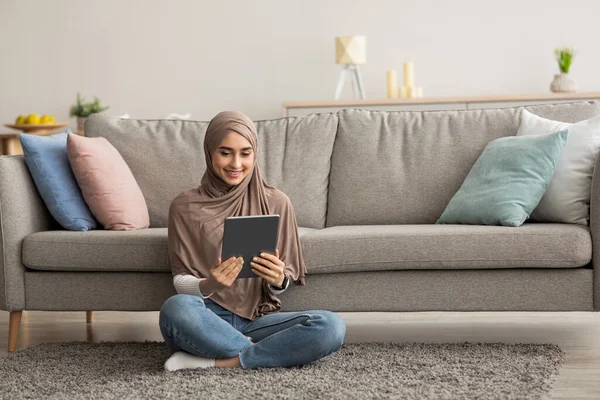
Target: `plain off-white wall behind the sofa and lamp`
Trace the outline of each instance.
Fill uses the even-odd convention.
[[[0,0],[0,122],[67,121],[77,91],[111,115],[277,118],[333,99],[334,37],[353,34],[367,98],[409,58],[425,96],[548,92],[562,45],[580,91],[599,91],[598,15],[598,0]]]

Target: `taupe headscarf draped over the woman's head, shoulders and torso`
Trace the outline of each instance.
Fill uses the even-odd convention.
[[[212,166],[212,154],[230,131],[246,138],[254,150],[252,170],[237,185],[223,181]],[[296,284],[306,285],[306,266],[292,203],[283,192],[264,182],[257,154],[256,127],[246,115],[223,111],[210,121],[204,137],[206,171],[200,187],[179,194],[169,208],[169,264],[173,276],[192,274],[208,278],[221,255],[225,218],[279,214],[277,248],[285,263],[285,274]],[[261,277],[236,279],[210,298],[250,320],[281,310],[281,301]]]

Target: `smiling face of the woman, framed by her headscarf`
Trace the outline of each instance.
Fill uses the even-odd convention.
[[[229,131],[212,154],[212,167],[219,178],[230,185],[239,184],[252,171],[254,149],[237,132]]]

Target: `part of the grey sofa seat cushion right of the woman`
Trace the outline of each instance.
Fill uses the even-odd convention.
[[[302,249],[311,274],[481,268],[575,268],[592,257],[582,225],[335,226],[309,233]]]

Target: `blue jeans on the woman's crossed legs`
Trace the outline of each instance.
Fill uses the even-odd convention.
[[[159,325],[171,354],[239,354],[242,368],[307,364],[338,351],[346,335],[344,320],[331,311],[276,312],[251,321],[210,298],[189,294],[176,294],[163,303]]]

